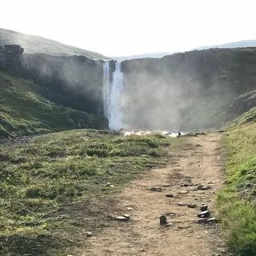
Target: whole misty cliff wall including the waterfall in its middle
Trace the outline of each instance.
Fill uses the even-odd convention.
[[[216,128],[255,104],[255,48],[193,50],[122,62],[22,52],[20,46],[1,46],[0,70],[33,80],[50,102],[104,115],[109,124],[101,119],[99,128]],[[241,100],[245,94],[247,100]],[[96,127],[71,122],[75,128]]]

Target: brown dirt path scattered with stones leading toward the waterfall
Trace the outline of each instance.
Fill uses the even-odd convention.
[[[119,214],[130,214],[130,222],[118,222],[88,239],[83,256],[210,256],[226,254],[218,225],[195,223],[202,203],[214,216],[214,194],[222,186],[220,134],[189,138],[172,155],[166,169],[150,170],[130,183],[118,195]],[[209,190],[194,190],[197,186]],[[184,186],[185,185],[185,186]],[[150,191],[162,187],[161,192]],[[174,198],[166,198],[174,194]],[[197,206],[179,206],[180,202]],[[133,210],[127,210],[131,207]],[[172,213],[168,216],[168,213]],[[167,214],[171,226],[160,226],[159,216]],[[114,221],[115,222],[115,221]]]

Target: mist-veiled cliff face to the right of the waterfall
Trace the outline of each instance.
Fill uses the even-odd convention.
[[[210,49],[122,62],[122,109],[130,126],[221,126],[241,94],[255,90],[256,49]],[[229,113],[227,113],[229,112]]]

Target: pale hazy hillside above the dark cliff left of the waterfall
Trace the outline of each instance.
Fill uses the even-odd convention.
[[[17,44],[24,48],[26,54],[44,53],[55,56],[83,55],[91,59],[108,59],[102,54],[89,50],[67,46],[61,42],[38,37],[30,34],[22,34],[13,30],[0,28],[0,45]]]

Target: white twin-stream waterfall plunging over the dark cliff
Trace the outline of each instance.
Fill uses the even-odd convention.
[[[103,64],[104,114],[109,120],[111,130],[118,130],[123,127],[121,95],[124,75],[121,69],[121,62],[115,62],[114,73],[110,74],[110,62]]]

